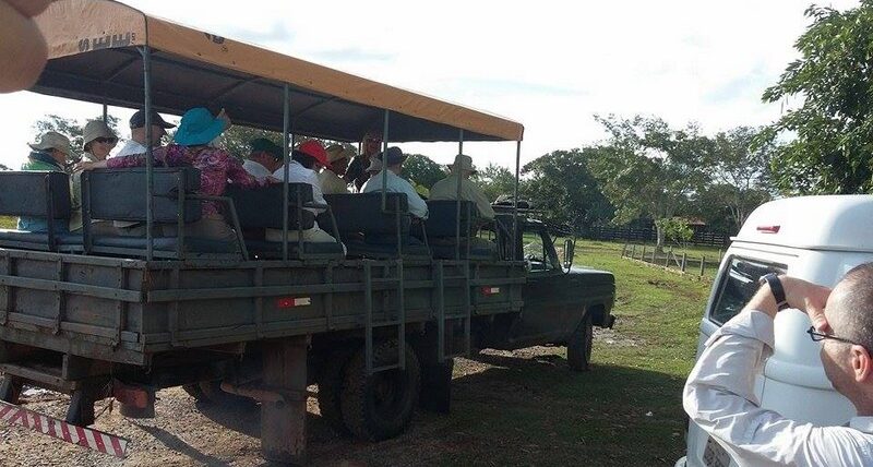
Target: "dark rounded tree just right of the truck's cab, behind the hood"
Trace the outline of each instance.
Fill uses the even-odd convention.
[[[588,170],[589,159],[599,157],[599,152],[596,147],[554,151],[526,164],[523,196],[550,223],[576,230],[608,219],[613,208]]]

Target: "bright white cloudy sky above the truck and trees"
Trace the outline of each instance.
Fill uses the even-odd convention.
[[[811,0],[123,2],[522,122],[524,164],[606,137],[594,115],[694,121],[709,134],[774,121],[797,103],[763,104],[761,95],[798,58],[793,43],[810,23]],[[0,164],[10,167],[26,158],[43,116],[84,122],[101,112],[28,92],[0,95]],[[127,121],[132,110],[110,113]],[[457,153],[450,143],[400,147],[440,163]],[[477,166],[515,164],[514,143],[466,143],[464,152]]]

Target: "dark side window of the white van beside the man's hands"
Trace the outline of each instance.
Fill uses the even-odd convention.
[[[781,264],[732,258],[721,277],[715,306],[709,311],[709,320],[719,325],[725,324],[755,295],[761,276],[769,273],[782,274],[785,271],[786,266]]]

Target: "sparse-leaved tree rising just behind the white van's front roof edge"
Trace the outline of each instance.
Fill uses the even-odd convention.
[[[704,189],[709,200],[703,211],[727,207],[733,232],[740,230],[755,207],[772,197],[769,165],[778,146],[773,141],[753,144],[758,135],[760,130],[738,127],[715,137],[708,164],[713,184]]]

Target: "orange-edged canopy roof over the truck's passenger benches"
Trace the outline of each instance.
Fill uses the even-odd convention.
[[[36,19],[49,63],[38,93],[139,108],[143,60],[152,49],[152,101],[181,115],[193,106],[227,108],[235,122],[283,128],[290,86],[291,131],[358,141],[382,130],[388,140],[521,141],[521,123],[294,57],[192,29],[110,0],[59,0]]]

